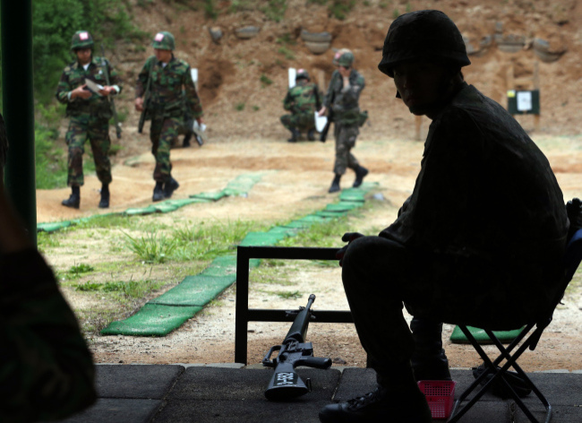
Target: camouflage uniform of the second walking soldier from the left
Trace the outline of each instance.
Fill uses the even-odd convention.
[[[152,69],[153,67],[153,69]],[[150,105],[147,118],[151,119],[151,153],[156,158],[153,178],[157,182],[171,179],[170,148],[184,125],[184,104],[193,119],[202,116],[201,101],[196,92],[190,65],[184,60],[172,59],[166,66],[150,56],[141,69],[135,89],[142,97],[151,70]]]

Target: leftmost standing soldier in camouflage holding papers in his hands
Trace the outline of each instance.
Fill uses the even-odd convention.
[[[80,186],[84,183],[82,154],[89,138],[97,177],[101,182],[98,207],[107,208],[111,183],[109,119],[113,116],[109,96],[121,92],[122,82],[105,57],[93,56],[93,38],[88,31],[75,32],[71,49],[75,60],[64,68],[56,87],[56,99],[66,104],[66,116],[71,118],[65,141],[69,148],[67,183],[72,194],[63,201],[63,205],[78,209],[81,203]],[[106,73],[111,85],[107,85]],[[102,88],[91,91],[87,80]]]

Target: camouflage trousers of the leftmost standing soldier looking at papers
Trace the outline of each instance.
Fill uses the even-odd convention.
[[[93,117],[90,114],[71,117],[69,129],[65,135],[65,142],[69,147],[69,170],[67,184],[69,186],[82,186],[85,183],[83,177],[83,152],[84,145],[89,138],[95,171],[102,184],[111,183],[111,162],[109,161],[109,123],[102,117]]]

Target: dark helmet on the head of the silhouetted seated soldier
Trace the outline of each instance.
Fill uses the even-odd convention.
[[[409,61],[471,65],[457,25],[438,10],[405,13],[390,25],[378,69],[393,78],[394,66]]]

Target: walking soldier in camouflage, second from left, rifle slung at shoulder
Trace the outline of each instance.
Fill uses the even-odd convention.
[[[158,202],[171,197],[179,186],[171,173],[170,148],[183,125],[184,104],[200,125],[203,122],[201,101],[190,65],[172,53],[174,36],[167,31],[158,32],[152,47],[154,56],[146,60],[137,78],[135,108],[142,111],[145,107],[146,117],[151,120],[151,153],[156,158],[152,200]],[[148,99],[144,99],[146,91]]]

